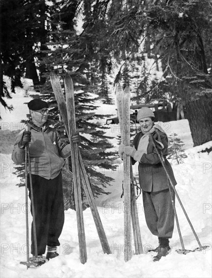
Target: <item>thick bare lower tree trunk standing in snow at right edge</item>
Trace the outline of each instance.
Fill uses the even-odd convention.
[[[194,147],[212,140],[212,98],[201,96],[198,100],[187,102],[186,110]]]

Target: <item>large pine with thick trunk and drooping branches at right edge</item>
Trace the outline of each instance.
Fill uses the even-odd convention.
[[[161,57],[168,90],[186,107],[194,146],[212,134],[211,58],[206,57],[211,51],[205,44],[212,33],[211,11],[208,0],[156,1],[145,11],[152,53]]]

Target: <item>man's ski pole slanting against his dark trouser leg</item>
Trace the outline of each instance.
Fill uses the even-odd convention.
[[[26,131],[28,131],[27,129]],[[34,208],[34,198],[33,198],[33,189],[32,189],[32,174],[31,174],[29,143],[26,144],[26,153],[28,157],[29,183],[30,183],[30,191],[31,191],[32,225],[33,225],[33,236],[34,236],[34,245],[35,245],[35,257],[37,258],[37,236],[36,236],[35,208]]]

